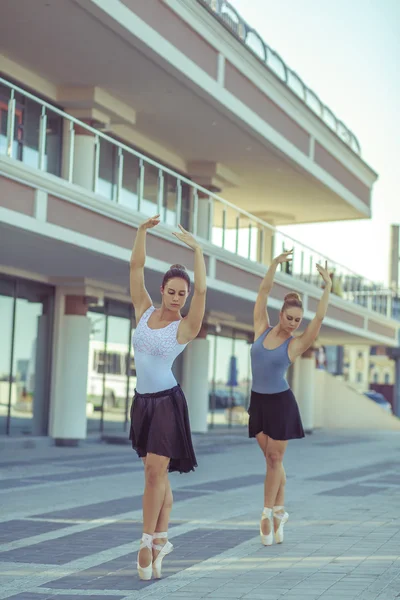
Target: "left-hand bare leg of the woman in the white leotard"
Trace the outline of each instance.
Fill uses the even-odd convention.
[[[169,458],[148,453],[145,461],[145,488],[143,494],[143,533],[153,535],[166,494],[166,471]],[[152,552],[142,548],[139,564],[147,567],[152,562]]]

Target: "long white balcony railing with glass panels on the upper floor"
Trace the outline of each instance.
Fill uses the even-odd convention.
[[[83,180],[88,139],[93,156]],[[397,296],[381,284],[2,78],[0,154],[80,185],[99,200],[148,216],[159,213],[165,224],[182,223],[210,244],[256,263],[268,264],[272,256],[293,248],[293,262],[283,269],[317,288],[321,278],[315,265],[327,260],[335,294],[388,317],[399,314]]]

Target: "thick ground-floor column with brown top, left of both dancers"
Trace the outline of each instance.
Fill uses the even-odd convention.
[[[61,296],[50,436],[57,446],[76,446],[86,438],[86,391],[90,319],[83,296]]]

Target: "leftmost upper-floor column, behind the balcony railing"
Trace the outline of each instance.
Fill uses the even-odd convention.
[[[91,121],[87,121],[91,125]],[[68,176],[69,169],[70,131],[69,122],[64,120],[63,132],[63,177]],[[87,190],[93,190],[93,176],[95,169],[95,136],[87,129],[75,126],[73,175],[72,183],[76,183]]]

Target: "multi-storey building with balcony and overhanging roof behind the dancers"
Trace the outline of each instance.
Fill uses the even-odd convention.
[[[0,37],[1,433],[67,443],[126,427],[128,261],[155,213],[156,303],[171,263],[193,268],[177,224],[204,245],[206,318],[176,371],[205,431],[218,398],[247,401],[253,303],[283,247],[294,261],[277,275],[271,319],[289,290],[305,323],[315,312],[325,257],[277,227],[369,218],[376,173],[326,99],[227,2],[3,0]],[[388,291],[329,264],[340,293],[320,343],[397,347]],[[313,356],[294,371],[312,428]]]

